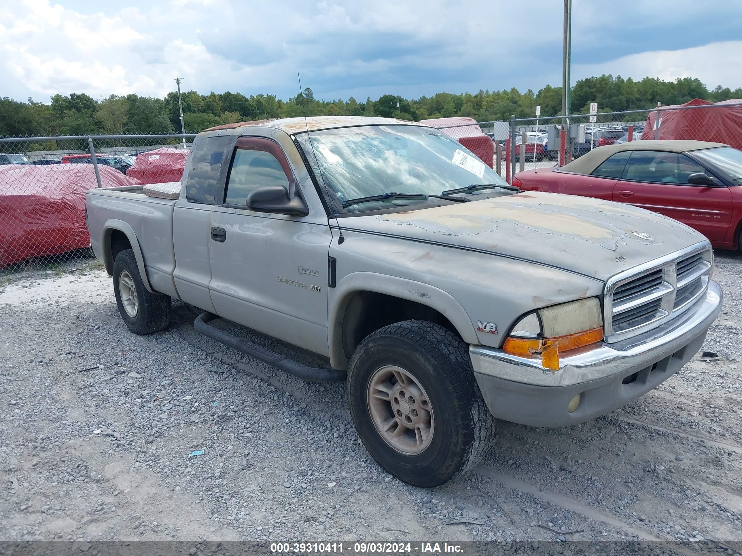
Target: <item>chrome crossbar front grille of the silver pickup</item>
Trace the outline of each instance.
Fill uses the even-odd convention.
[[[617,274],[605,285],[605,341],[641,334],[677,317],[706,291],[713,252],[704,242]]]

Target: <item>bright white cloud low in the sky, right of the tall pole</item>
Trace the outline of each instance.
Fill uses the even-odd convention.
[[[573,80],[611,73],[624,79],[697,77],[706,87],[742,87],[742,41],[712,42],[681,50],[657,50],[623,56],[601,64],[580,64],[572,68]]]

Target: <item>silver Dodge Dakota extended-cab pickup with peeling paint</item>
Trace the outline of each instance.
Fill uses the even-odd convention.
[[[569,426],[640,397],[691,359],[722,302],[691,228],[521,192],[439,130],[394,119],[207,130],[182,183],[88,191],[86,214],[131,331],[163,330],[180,299],[215,340],[346,380],[367,449],[417,486],[474,466],[492,416]]]

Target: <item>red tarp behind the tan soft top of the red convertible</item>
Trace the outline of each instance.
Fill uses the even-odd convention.
[[[684,106],[709,106],[689,110],[660,110],[660,133],[658,139],[695,139],[726,143],[742,149],[742,106],[725,106],[741,103],[742,99],[712,103],[693,99]],[[671,108],[664,106],[663,108]],[[657,112],[650,112],[644,126],[642,139],[654,139],[654,121]]]

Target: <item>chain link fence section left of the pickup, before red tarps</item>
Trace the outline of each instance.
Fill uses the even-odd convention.
[[[180,181],[194,137],[0,138],[0,277],[91,257],[85,191]]]

